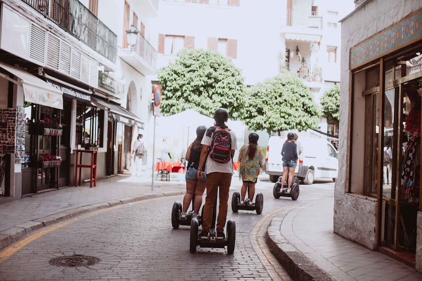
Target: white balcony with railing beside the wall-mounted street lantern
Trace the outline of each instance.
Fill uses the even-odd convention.
[[[143,75],[154,75],[157,51],[138,33],[137,44],[133,49],[122,50],[120,58]]]

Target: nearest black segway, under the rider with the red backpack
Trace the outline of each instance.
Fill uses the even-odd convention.
[[[201,248],[225,248],[227,246],[227,254],[233,254],[235,251],[236,242],[236,223],[234,220],[227,222],[226,234],[227,236],[221,240],[217,240],[217,230],[215,229],[216,213],[217,213],[217,197],[214,202],[214,211],[212,214],[211,228],[208,234],[208,239],[198,238],[198,226],[199,222],[196,218],[190,221],[190,245],[189,251],[191,253],[196,252],[196,247]]]

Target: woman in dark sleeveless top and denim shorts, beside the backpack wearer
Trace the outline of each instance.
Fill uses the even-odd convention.
[[[188,161],[188,167],[185,175],[186,179],[186,194],[183,197],[183,211],[180,215],[181,218],[186,218],[187,209],[189,208],[190,201],[192,201],[193,196],[195,196],[193,200],[193,210],[194,214],[192,218],[196,218],[199,214],[199,208],[202,204],[202,194],[205,190],[205,164],[202,168],[203,178],[197,178],[198,172],[198,165],[199,165],[199,157],[201,156],[202,151],[202,144],[201,140],[205,134],[207,127],[199,126],[196,128],[196,139],[189,145],[186,151],[186,161]],[[205,160],[206,161],[206,160]]]

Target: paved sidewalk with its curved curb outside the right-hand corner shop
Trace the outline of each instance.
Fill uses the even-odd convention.
[[[333,232],[334,197],[283,210],[267,244],[292,280],[422,280],[422,274]]]

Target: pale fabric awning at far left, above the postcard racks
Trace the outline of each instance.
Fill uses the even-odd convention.
[[[4,75],[3,78],[16,85],[22,85],[25,101],[33,102],[49,107],[63,109],[63,93],[47,82],[26,72],[23,69],[13,67],[0,62],[0,68],[13,74],[21,80],[21,83]]]

